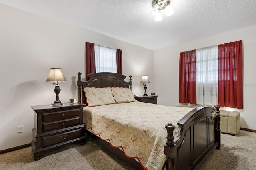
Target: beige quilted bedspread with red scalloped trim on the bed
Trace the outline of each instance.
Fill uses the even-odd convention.
[[[84,123],[102,140],[122,148],[129,158],[137,158],[148,170],[160,170],[164,165],[164,143],[167,123],[180,128],[177,122],[192,108],[171,107],[142,102],[114,103],[84,107]]]

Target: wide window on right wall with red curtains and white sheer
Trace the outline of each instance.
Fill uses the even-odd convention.
[[[241,40],[180,53],[179,102],[243,109],[242,65]]]

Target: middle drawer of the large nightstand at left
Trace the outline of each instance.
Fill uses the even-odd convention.
[[[80,117],[74,117],[71,119],[64,119],[61,121],[54,121],[49,123],[43,123],[42,124],[42,131],[48,131],[48,130],[55,130],[60,128],[69,127],[72,125],[79,125],[80,124]]]

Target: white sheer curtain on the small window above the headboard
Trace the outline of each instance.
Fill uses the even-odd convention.
[[[94,45],[96,73],[117,73],[116,49]]]

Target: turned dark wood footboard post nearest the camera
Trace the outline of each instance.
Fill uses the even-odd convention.
[[[167,140],[165,142],[166,144],[164,145],[164,154],[167,156],[166,169],[176,170],[176,165],[174,164],[174,157],[177,155],[177,148],[176,144],[173,141],[173,130],[175,129],[175,126],[171,123],[168,123],[167,125],[165,125],[165,128],[167,130]]]

